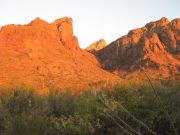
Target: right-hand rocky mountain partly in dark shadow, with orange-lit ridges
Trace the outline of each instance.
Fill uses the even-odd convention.
[[[180,19],[163,17],[110,43],[96,53],[102,67],[119,76],[146,70],[151,77],[180,74]]]

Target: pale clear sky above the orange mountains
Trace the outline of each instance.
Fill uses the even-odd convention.
[[[179,18],[180,0],[0,0],[0,26],[64,16],[73,18],[74,34],[85,48],[101,38],[112,42],[163,16]]]

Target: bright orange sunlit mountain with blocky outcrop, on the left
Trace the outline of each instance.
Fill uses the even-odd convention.
[[[110,81],[109,81],[110,80]],[[48,23],[36,18],[0,29],[0,87],[82,90],[119,78],[101,69],[95,56],[79,47],[72,19]]]

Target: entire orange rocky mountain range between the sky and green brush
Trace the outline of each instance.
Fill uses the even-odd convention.
[[[68,17],[52,23],[36,18],[1,27],[0,88],[92,90],[139,77],[142,69],[151,77],[178,80],[180,19],[162,18],[109,45],[96,41],[86,50],[79,47],[72,23]]]

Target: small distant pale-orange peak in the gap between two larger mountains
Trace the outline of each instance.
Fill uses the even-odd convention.
[[[90,53],[96,53],[97,51],[103,49],[106,45],[107,45],[106,41],[104,39],[100,39],[99,41],[92,43],[85,50]]]

